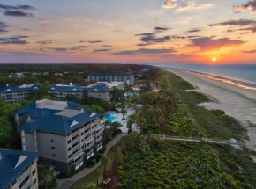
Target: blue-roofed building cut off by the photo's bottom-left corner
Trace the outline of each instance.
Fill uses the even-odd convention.
[[[0,149],[0,188],[38,189],[37,152]]]

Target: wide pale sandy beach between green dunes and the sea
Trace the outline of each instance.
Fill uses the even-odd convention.
[[[196,91],[206,94],[213,100],[200,105],[208,109],[220,109],[240,120],[248,129],[249,140],[245,141],[245,146],[256,151],[256,127],[248,127],[248,121],[256,124],[256,90],[253,84],[181,69],[163,69],[181,76],[193,84]]]

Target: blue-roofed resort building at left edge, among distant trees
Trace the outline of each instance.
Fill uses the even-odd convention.
[[[15,103],[26,99],[33,90],[41,90],[41,86],[38,84],[23,84],[11,87],[6,84],[5,87],[0,87],[0,97],[4,98],[4,102]]]

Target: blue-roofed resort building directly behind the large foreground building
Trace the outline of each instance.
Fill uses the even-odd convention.
[[[56,84],[49,87],[48,93],[56,98],[65,100],[67,96],[75,96],[79,99],[87,97],[101,98],[110,101],[109,88],[106,84],[90,84],[88,86],[79,86]]]

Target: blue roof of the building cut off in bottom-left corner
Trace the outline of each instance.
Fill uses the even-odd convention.
[[[0,188],[8,188],[38,155],[37,152],[0,149]]]

